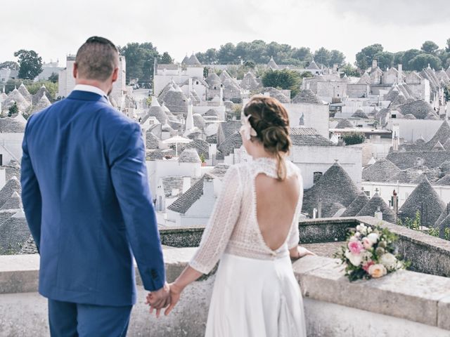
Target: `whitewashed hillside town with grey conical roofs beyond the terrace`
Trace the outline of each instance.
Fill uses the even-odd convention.
[[[27,118],[74,88],[75,55],[65,61],[39,74],[58,74],[53,94],[45,85],[32,94],[23,83],[8,92],[0,84],[2,254],[36,252],[20,199],[21,144]],[[278,65],[272,57],[238,79],[232,65],[202,64],[192,53],[155,61],[151,87],[139,88],[121,56],[109,100],[141,125],[158,225],[206,225],[226,170],[252,160],[238,133],[240,112],[261,94],[288,110],[303,218],[374,216],[450,239],[450,67],[382,70],[374,59],[360,76],[347,76],[339,64],[307,63]],[[283,70],[300,74],[297,90],[264,86],[262,72]],[[3,84],[18,77],[7,67],[0,75]]]

